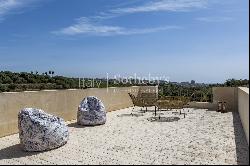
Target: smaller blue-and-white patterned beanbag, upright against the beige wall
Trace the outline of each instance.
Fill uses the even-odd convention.
[[[106,111],[101,100],[94,96],[83,99],[78,107],[77,123],[85,126],[105,124]]]

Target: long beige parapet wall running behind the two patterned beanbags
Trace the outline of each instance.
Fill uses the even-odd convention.
[[[23,108],[40,108],[68,121],[76,119],[78,105],[86,96],[100,98],[107,111],[114,111],[132,106],[128,93],[138,93],[138,89],[126,87],[0,93],[0,137],[18,132],[17,116]]]

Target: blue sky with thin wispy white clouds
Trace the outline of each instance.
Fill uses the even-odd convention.
[[[0,0],[0,70],[249,78],[248,0]]]

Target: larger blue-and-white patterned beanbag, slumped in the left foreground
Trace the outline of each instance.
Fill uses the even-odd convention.
[[[46,151],[58,148],[69,139],[64,120],[43,110],[25,108],[18,114],[21,146],[25,151]]]

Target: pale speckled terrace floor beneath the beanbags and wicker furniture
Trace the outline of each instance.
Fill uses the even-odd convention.
[[[69,142],[48,152],[23,152],[18,134],[0,138],[0,164],[249,163],[249,147],[237,113],[186,109],[184,118],[164,111],[161,117],[180,119],[151,122],[153,109],[144,116],[131,116],[131,110],[108,113],[103,126],[70,124]]]

